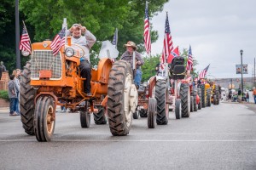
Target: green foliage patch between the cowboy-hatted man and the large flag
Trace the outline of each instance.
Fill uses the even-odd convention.
[[[160,54],[151,56],[150,58],[143,58],[144,65],[142,66],[143,78],[142,82],[147,82],[150,77],[155,75],[155,66],[159,64]]]

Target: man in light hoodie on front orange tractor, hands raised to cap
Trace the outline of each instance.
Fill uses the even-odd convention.
[[[84,33],[84,36],[82,36]],[[79,69],[81,77],[86,78],[84,80],[84,93],[91,96],[90,93],[90,48],[96,42],[96,37],[86,29],[85,26],[80,24],[73,24],[73,26],[67,30],[67,36],[72,35],[71,42],[79,44],[84,49],[84,56],[80,58]]]

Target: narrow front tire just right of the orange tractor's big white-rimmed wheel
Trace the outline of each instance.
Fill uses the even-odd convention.
[[[149,98],[148,100],[148,128],[155,127],[156,120],[156,99]]]

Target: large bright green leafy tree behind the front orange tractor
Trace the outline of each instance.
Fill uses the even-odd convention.
[[[150,2],[149,16],[161,11],[166,2]],[[49,12],[49,8],[54,13]],[[143,51],[144,10],[145,1],[142,0],[20,0],[20,11],[25,14],[26,23],[34,29],[35,41],[55,37],[61,30],[63,18],[67,18],[69,26],[81,23],[96,36],[97,42],[92,48],[96,53],[93,54],[99,53],[102,41],[112,41],[115,28],[119,29],[120,54],[125,51],[123,44],[129,40],[136,42],[139,51]],[[157,32],[152,31],[151,41],[155,42],[157,38]]]

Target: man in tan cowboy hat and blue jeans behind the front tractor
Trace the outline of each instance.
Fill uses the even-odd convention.
[[[141,54],[139,54],[137,52],[137,46],[134,42],[127,42],[125,45],[126,47],[126,51],[124,54],[122,54],[121,59],[126,60],[128,63],[130,63],[131,68],[133,67],[133,57],[132,54],[133,52],[135,52],[135,64],[136,64],[136,74],[135,74],[135,78],[134,78],[134,82],[137,85],[137,88],[140,86],[140,83],[142,81],[142,75],[143,72],[141,70],[141,65],[144,64],[144,60]],[[132,68],[134,69],[134,68]]]

